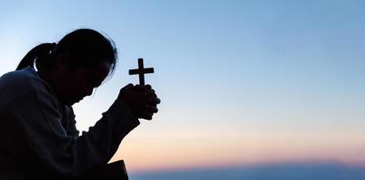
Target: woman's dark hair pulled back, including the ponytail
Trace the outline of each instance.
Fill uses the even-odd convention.
[[[110,72],[117,64],[117,48],[113,40],[91,29],[71,31],[59,43],[42,43],[31,49],[20,61],[16,70],[35,65],[38,71],[51,70],[54,57],[61,52],[70,52],[72,67],[93,67],[101,60],[110,62]]]

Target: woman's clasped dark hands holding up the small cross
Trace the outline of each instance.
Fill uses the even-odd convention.
[[[152,120],[158,112],[157,104],[161,103],[151,85],[126,85],[117,98],[126,103],[136,118],[145,120]]]

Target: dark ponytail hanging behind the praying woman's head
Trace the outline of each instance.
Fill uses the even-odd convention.
[[[16,67],[16,70],[22,69],[24,67],[33,67],[35,59],[37,59],[37,63],[40,63],[43,60],[50,60],[49,58],[51,57],[51,51],[55,47],[56,43],[42,43],[34,47],[20,61],[18,67]],[[40,64],[43,63],[47,62],[41,62]]]

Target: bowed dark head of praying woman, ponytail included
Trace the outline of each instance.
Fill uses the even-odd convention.
[[[92,93],[114,70],[117,49],[98,31],[71,31],[57,44],[44,43],[22,59],[17,69],[35,65],[61,103],[73,104]]]

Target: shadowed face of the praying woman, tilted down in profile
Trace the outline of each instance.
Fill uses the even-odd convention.
[[[92,94],[94,88],[101,85],[108,76],[110,69],[107,59],[100,60],[94,67],[71,67],[69,60],[69,55],[58,59],[56,71],[52,73],[55,78],[51,85],[59,101],[66,105],[78,103]]]

